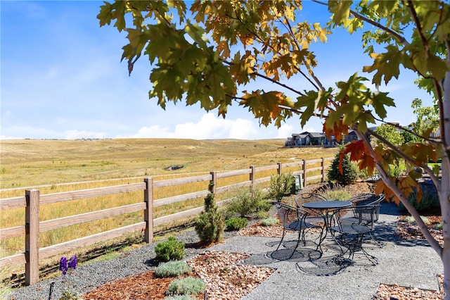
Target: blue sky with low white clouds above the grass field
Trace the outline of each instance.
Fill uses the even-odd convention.
[[[1,127],[0,139],[184,138],[276,139],[302,131],[321,131],[321,120],[302,129],[291,118],[279,129],[260,127],[245,108],[229,109],[226,119],[200,106],[157,106],[148,99],[150,65],[142,56],[129,77],[120,62],[125,34],[100,27],[96,15],[103,1],[0,1],[1,11]],[[308,2],[314,13],[305,18],[325,23],[325,7]],[[349,75],[371,78],[362,66],[371,64],[362,53],[360,37],[338,32],[326,44],[315,44],[316,74],[326,85]],[[413,122],[411,101],[430,96],[413,85],[416,76],[404,72],[383,92],[396,99],[387,121]],[[290,80],[296,89],[310,89]],[[304,85],[304,86],[303,86]],[[252,85],[268,91],[263,82]],[[250,88],[248,88],[250,90]],[[288,93],[286,93],[288,94]],[[289,94],[288,94],[289,95]],[[295,95],[292,95],[295,96]]]

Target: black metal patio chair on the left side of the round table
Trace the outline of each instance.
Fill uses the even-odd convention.
[[[283,226],[283,236],[281,237],[281,241],[276,247],[276,250],[280,248],[281,244],[283,243],[285,234],[288,231],[298,232],[297,244],[295,245],[293,253],[290,254],[289,258],[291,258],[294,255],[298,245],[300,244],[300,241],[302,241],[303,245],[306,246],[304,234],[307,230],[310,230],[312,228],[319,229],[320,230],[319,239],[321,239],[323,235],[323,227],[309,222],[308,219],[309,212],[305,211],[300,207],[290,206],[288,204],[283,204],[281,202],[278,202],[276,204],[276,207],[278,209],[278,215],[281,220],[281,225]],[[316,251],[319,249],[319,246],[320,244],[316,246]]]

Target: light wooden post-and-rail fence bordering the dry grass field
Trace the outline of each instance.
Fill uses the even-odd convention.
[[[143,182],[131,183],[128,185],[115,185],[111,187],[98,187],[94,189],[82,189],[71,192],[60,192],[54,194],[39,194],[38,189],[26,189],[25,196],[17,196],[13,198],[0,199],[0,210],[7,211],[17,208],[25,208],[25,225],[1,228],[0,241],[13,237],[25,237],[25,251],[13,256],[0,258],[0,268],[15,268],[20,265],[25,265],[25,285],[34,285],[39,281],[39,259],[49,258],[63,254],[67,251],[79,249],[84,246],[104,242],[108,239],[121,237],[133,232],[143,232],[144,239],[147,243],[153,242],[154,227],[164,225],[175,220],[184,220],[189,217],[200,214],[203,211],[203,206],[172,213],[170,215],[163,215],[159,218],[153,218],[154,208],[158,206],[165,206],[167,204],[175,204],[190,199],[204,198],[210,193],[209,187],[212,185],[213,193],[219,194],[236,189],[238,187],[247,187],[251,185],[268,182],[271,176],[276,174],[283,174],[286,168],[293,169],[289,173],[293,175],[302,175],[302,186],[306,186],[307,182],[312,180],[325,180],[326,168],[328,168],[329,161],[333,158],[320,158],[315,160],[300,160],[293,163],[277,163],[276,165],[267,165],[262,167],[250,166],[248,169],[231,170],[226,172],[211,172],[209,175],[198,175],[193,177],[181,177],[171,180],[153,181],[151,177],[144,178]],[[314,168],[308,168],[309,165],[318,165]],[[257,178],[257,175],[263,175],[272,172],[271,176]],[[319,175],[310,175],[308,173],[319,173]],[[247,180],[232,183],[229,185],[218,186],[218,182],[225,182],[227,178],[232,177],[247,177]],[[176,196],[169,196],[162,199],[153,199],[154,191],[158,188],[173,188],[176,185],[188,185],[197,182],[204,182],[205,189],[191,192],[188,194],[180,194]],[[56,204],[64,201],[72,201],[77,199],[95,198],[99,196],[117,195],[127,192],[143,192],[142,201],[137,204],[129,204],[125,206],[117,206],[114,208],[107,208],[101,211],[91,211],[88,213],[81,213],[77,215],[70,215],[64,218],[56,218],[53,220],[39,221],[39,208],[44,204]],[[218,206],[222,206],[227,200],[217,202]],[[100,220],[103,218],[110,218],[125,213],[134,213],[143,211],[143,220],[139,223],[119,227],[113,230],[100,232],[95,235],[80,237],[72,239],[68,242],[60,244],[53,244],[44,248],[39,248],[39,233],[48,230],[56,230],[59,228],[77,225],[81,223]]]

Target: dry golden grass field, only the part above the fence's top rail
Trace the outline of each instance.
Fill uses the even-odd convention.
[[[330,157],[336,151],[283,146],[283,139],[4,140],[0,188],[236,170],[292,158]],[[184,168],[165,170],[170,165]]]

